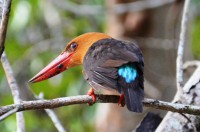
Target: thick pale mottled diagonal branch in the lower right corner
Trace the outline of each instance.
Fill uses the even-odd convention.
[[[200,106],[200,66],[194,71],[190,79],[187,81],[183,88],[183,93],[179,95],[180,101],[184,104],[191,104]],[[198,80],[198,81],[195,81]],[[195,82],[194,82],[195,81]],[[198,114],[197,114],[198,115]],[[185,115],[187,118],[183,118],[183,115],[168,112],[156,132],[168,132],[168,131],[195,131],[199,128],[200,118],[193,115]],[[188,122],[188,119],[190,121]],[[174,125],[177,124],[177,125]]]

